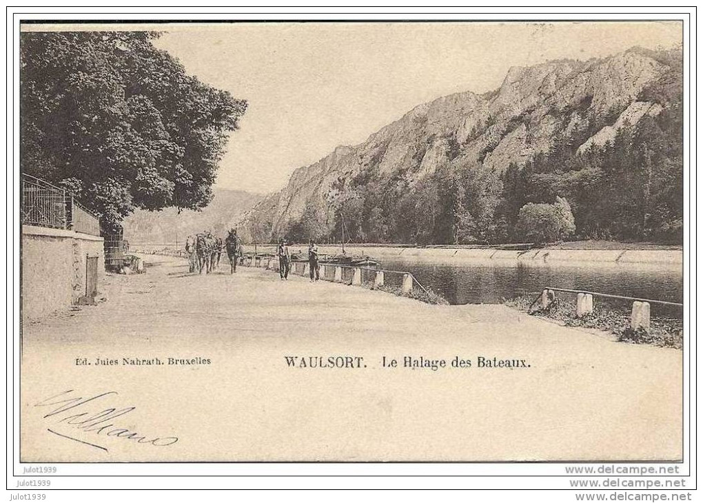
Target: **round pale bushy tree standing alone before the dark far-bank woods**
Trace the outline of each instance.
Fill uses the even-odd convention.
[[[576,230],[569,203],[562,197],[554,204],[525,204],[520,208],[517,228],[526,240],[537,244],[562,240]]]

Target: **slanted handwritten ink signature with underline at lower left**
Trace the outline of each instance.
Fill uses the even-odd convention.
[[[83,398],[82,396],[76,396],[75,390],[70,389],[41,400],[41,402],[34,404],[34,407],[55,407],[42,418],[52,423],[51,426],[53,426],[53,429],[47,428],[49,433],[102,449],[105,452],[108,452],[108,448],[89,442],[88,440],[93,440],[93,436],[98,436],[98,438],[112,437],[141,445],[153,445],[155,447],[167,447],[178,442],[178,437],[147,436],[116,424],[115,419],[124,419],[124,416],[134,412],[136,407],[117,408],[108,406],[108,408],[98,410],[97,412],[94,409],[86,410],[94,405],[105,407],[106,398],[112,398],[113,395],[116,396],[117,394],[117,391],[108,391],[106,393]],[[54,426],[54,423],[56,426]],[[84,440],[82,440],[81,438],[71,436],[71,434],[74,433],[67,431],[67,429],[91,433],[91,435],[81,435],[81,437],[84,438]]]

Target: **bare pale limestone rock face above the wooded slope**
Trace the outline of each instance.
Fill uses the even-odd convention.
[[[340,146],[297,169],[288,186],[259,202],[245,221],[268,221],[277,237],[313,207],[333,226],[335,204],[348,196],[352,178],[367,170],[400,174],[412,185],[438,169],[483,164],[501,172],[560,144],[579,152],[604,145],[625,124],[662,112],[662,105],[640,95],[679,71],[639,48],[609,58],[512,67],[494,92],[423,103],[360,145]]]

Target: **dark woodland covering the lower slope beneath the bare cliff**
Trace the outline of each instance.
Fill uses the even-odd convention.
[[[402,172],[381,175],[372,164],[337,184],[344,197],[330,238],[341,239],[343,216],[356,242],[496,244],[566,237],[681,242],[682,124],[681,101],[674,100],[657,117],[626,125],[605,145],[579,152],[579,138],[502,173],[480,162],[464,165],[458,156],[412,181]],[[568,207],[561,219],[556,200]],[[545,226],[542,231],[537,222]]]

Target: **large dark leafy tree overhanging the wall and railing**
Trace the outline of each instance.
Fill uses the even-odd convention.
[[[134,209],[201,209],[247,103],[186,74],[154,32],[23,33],[23,172],[117,226]]]

